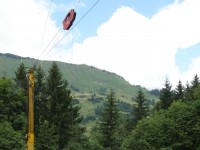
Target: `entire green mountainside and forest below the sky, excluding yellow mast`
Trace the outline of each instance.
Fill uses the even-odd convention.
[[[25,149],[33,62],[0,56],[0,149]],[[44,61],[34,72],[36,150],[200,149],[197,75],[174,90],[166,79],[161,90],[148,92],[86,65]]]

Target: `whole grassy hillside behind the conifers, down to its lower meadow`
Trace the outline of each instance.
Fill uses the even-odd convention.
[[[13,78],[21,62],[25,64],[27,70],[34,62],[37,62],[37,65],[40,64],[46,74],[48,74],[48,69],[52,64],[51,61],[36,61],[31,58],[21,58],[12,54],[0,53],[0,77]],[[102,106],[110,89],[115,91],[119,101],[130,104],[133,103],[132,98],[135,97],[139,89],[139,86],[131,85],[119,75],[105,70],[87,65],[56,63],[60,67],[63,77],[69,82],[72,94],[81,105],[81,113],[84,116],[95,114],[95,110],[97,107]],[[143,90],[148,99],[158,100],[156,96],[151,95],[145,88]]]

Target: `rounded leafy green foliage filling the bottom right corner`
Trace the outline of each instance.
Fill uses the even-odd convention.
[[[198,104],[198,105],[197,105]],[[143,143],[151,149],[198,149],[200,140],[200,101],[190,106],[184,102],[174,102],[168,110],[160,110],[153,116],[141,120],[125,140],[126,149],[134,149]]]

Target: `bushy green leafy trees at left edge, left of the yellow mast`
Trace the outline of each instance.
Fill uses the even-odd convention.
[[[25,149],[25,100],[23,90],[0,79],[0,149]]]

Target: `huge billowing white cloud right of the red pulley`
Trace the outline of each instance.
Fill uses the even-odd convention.
[[[187,74],[180,74],[175,64],[178,48],[200,42],[199,14],[199,0],[175,2],[150,19],[121,7],[98,28],[95,37],[74,44],[73,62],[115,72],[147,88],[162,87],[166,76],[175,86]]]

